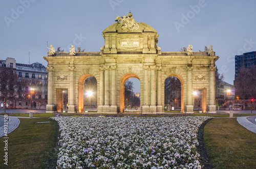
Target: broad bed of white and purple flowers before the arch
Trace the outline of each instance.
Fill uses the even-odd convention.
[[[54,117],[58,168],[201,168],[197,132],[211,117]]]

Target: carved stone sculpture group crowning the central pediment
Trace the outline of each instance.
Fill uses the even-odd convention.
[[[139,24],[133,18],[131,11],[127,14],[127,16],[117,16],[115,21],[117,21],[118,24],[121,24],[122,31],[127,30],[127,32],[133,32],[139,28]]]

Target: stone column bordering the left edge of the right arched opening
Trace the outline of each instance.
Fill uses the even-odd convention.
[[[162,67],[157,66],[157,112],[163,112],[162,106]]]

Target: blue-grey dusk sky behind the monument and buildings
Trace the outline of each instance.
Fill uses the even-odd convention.
[[[180,51],[188,44],[193,51],[203,51],[213,45],[220,57],[218,70],[233,84],[234,55],[256,50],[255,6],[254,0],[2,1],[0,59],[29,64],[30,52],[30,64],[47,66],[42,58],[47,56],[47,41],[65,52],[72,44],[87,52],[100,51],[102,31],[131,10],[137,22],[158,32],[162,51]]]

